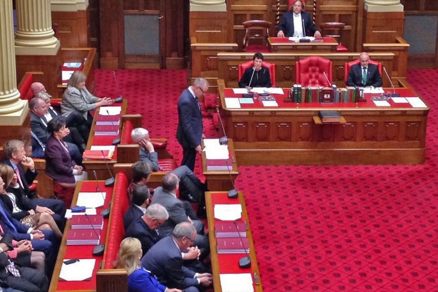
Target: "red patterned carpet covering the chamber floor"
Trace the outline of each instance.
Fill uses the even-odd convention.
[[[431,108],[424,165],[239,168],[266,292],[438,291],[434,77],[408,78]],[[176,101],[187,72],[119,70],[117,79],[129,113],[168,138],[179,162]],[[118,95],[112,83],[112,71],[96,71],[97,95]],[[210,119],[204,125],[207,137],[219,135]]]

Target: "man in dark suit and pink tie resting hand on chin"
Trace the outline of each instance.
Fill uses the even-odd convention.
[[[3,148],[5,159],[3,164],[12,167],[18,177],[18,184],[23,193],[37,204],[36,211],[43,213],[47,212],[53,216],[59,229],[64,230],[66,219],[66,207],[64,202],[57,199],[40,199],[37,194],[29,189],[29,184],[32,184],[37,177],[38,172],[35,169],[34,160],[25,155],[24,143],[20,140],[9,140]],[[26,167],[27,170],[24,171]]]

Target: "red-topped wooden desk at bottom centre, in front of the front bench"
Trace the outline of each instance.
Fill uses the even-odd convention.
[[[248,213],[246,212],[245,198],[242,192],[239,192],[237,199],[228,199],[227,192],[209,192],[205,193],[205,204],[207,207],[207,222],[208,222],[208,239],[210,241],[210,255],[211,255],[211,270],[213,274],[214,292],[222,292],[220,274],[229,273],[251,273],[253,276],[257,275],[258,284],[254,284],[255,292],[262,292],[262,282],[259,273],[259,265],[257,263],[256,251],[254,249],[253,234],[251,226],[249,225]],[[217,254],[216,237],[214,236],[214,205],[215,204],[240,204],[242,205],[242,220],[246,221],[248,230],[246,237],[249,239],[249,257],[251,257],[251,268],[239,268],[239,258],[245,256],[244,253],[237,254]]]

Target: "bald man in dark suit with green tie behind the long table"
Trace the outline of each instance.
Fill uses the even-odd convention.
[[[358,87],[382,87],[382,76],[376,64],[369,63],[369,55],[362,52],[359,56],[359,64],[350,68],[347,85]]]

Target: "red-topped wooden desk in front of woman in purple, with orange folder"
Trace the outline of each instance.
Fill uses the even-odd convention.
[[[128,109],[128,100],[123,100],[123,103],[114,104],[114,106],[121,106],[120,115],[126,114],[127,109]],[[120,137],[121,129],[119,130],[119,135],[117,135],[117,136],[95,136],[96,118],[99,115],[99,110],[100,110],[100,108],[98,108],[95,112],[93,123],[91,125],[90,135],[88,137],[87,149],[90,149],[91,146],[93,146],[93,145],[112,145],[112,141],[114,139]],[[114,167],[114,164],[117,163],[117,151],[114,151],[112,159],[107,160],[107,163],[108,163],[109,169],[111,170],[112,174],[114,175],[113,167]],[[105,180],[105,179],[110,178],[110,174],[108,173],[108,167],[107,167],[104,159],[88,159],[88,160],[84,160],[83,164],[85,165],[85,167],[87,169],[88,177],[90,179],[93,178],[93,174],[92,174],[93,170],[96,171],[98,179]]]

